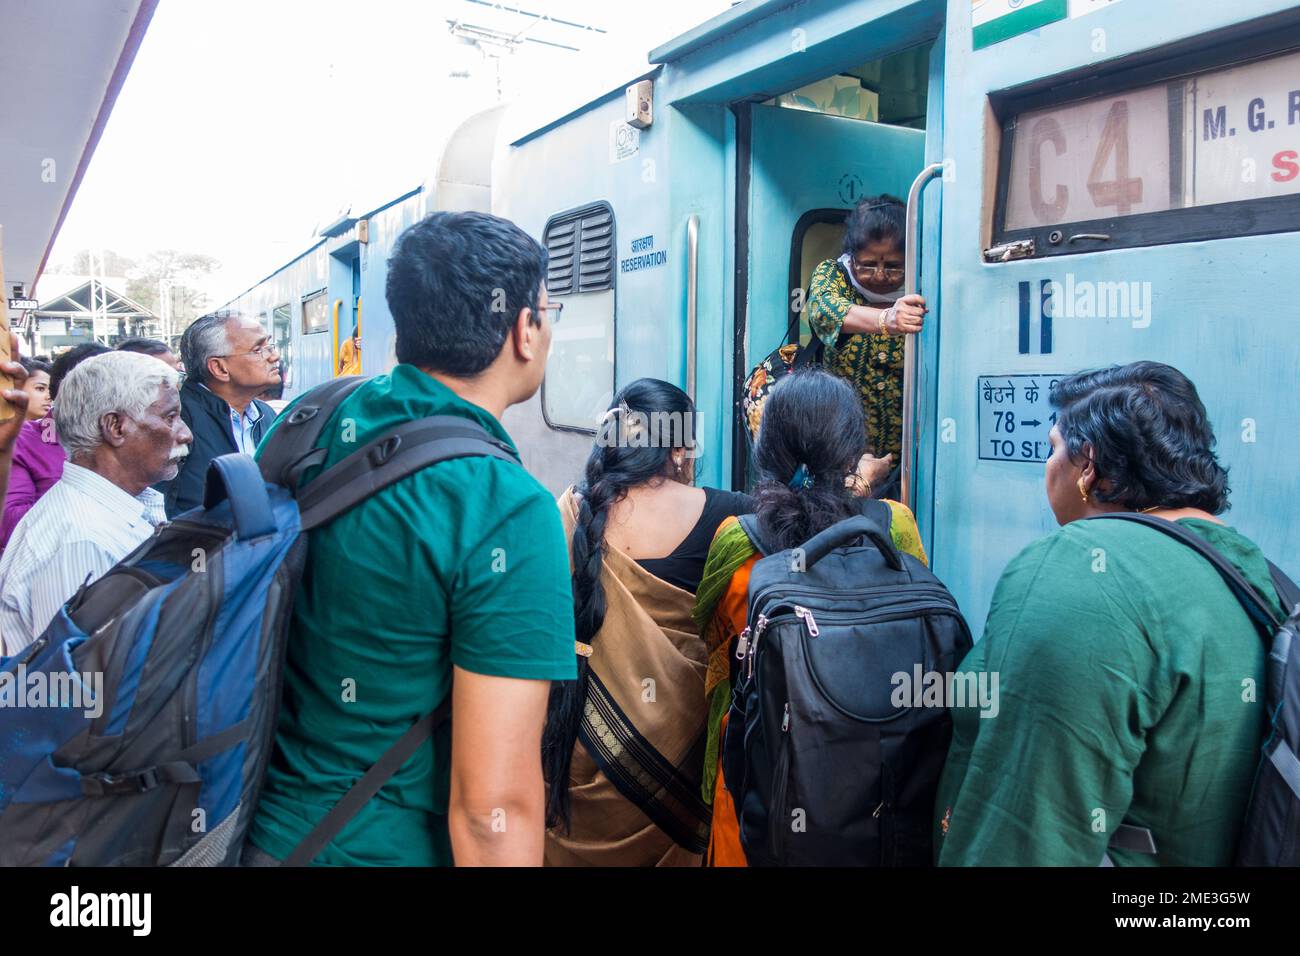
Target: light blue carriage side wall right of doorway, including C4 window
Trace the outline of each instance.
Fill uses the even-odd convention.
[[[1045,386],[1152,359],[1200,390],[1227,520],[1296,575],[1300,10],[1040,0],[1037,25],[1002,7],[949,7],[939,364],[919,395],[940,574],[983,619],[1006,561],[1056,527]]]

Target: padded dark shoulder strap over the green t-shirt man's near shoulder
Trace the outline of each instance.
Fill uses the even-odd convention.
[[[333,520],[372,494],[422,468],[452,458],[519,455],[477,421],[434,415],[398,425],[312,479],[298,494],[303,531]]]

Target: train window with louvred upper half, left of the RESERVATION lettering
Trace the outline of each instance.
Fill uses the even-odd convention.
[[[594,432],[614,397],[614,209],[594,203],[559,213],[542,234],[546,291],[564,303],[542,381],[542,415],[551,428]]]

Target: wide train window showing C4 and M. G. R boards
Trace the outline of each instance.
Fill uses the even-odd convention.
[[[994,245],[1001,255],[1013,243],[1019,255],[1062,255],[1295,230],[1297,74],[1300,51],[1290,51],[1069,101],[1004,104]]]

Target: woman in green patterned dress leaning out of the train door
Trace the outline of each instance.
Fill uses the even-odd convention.
[[[926,299],[904,295],[906,207],[889,196],[859,202],[844,229],[844,252],[827,259],[809,281],[809,328],[826,346],[826,367],[846,380],[862,402],[867,449],[878,459],[870,480],[885,479],[902,451],[904,336],[922,330]],[[884,485],[880,488],[880,485]]]

